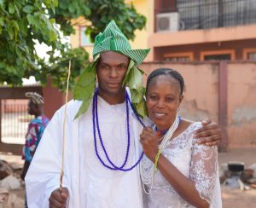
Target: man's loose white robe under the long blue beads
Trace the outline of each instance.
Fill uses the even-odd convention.
[[[90,107],[84,115],[73,120],[81,102],[67,104],[66,153],[63,187],[69,190],[69,208],[143,207],[143,190],[138,167],[123,172],[108,170],[96,158],[92,113]],[[125,103],[109,105],[98,96],[99,124],[102,140],[109,158],[122,165],[127,148]],[[131,107],[130,107],[131,114]],[[30,208],[49,207],[49,195],[60,186],[62,122],[64,107],[51,119],[32,159],[26,175],[26,196]],[[125,167],[131,167],[140,156],[139,134],[142,125],[130,116],[131,147]],[[100,142],[102,159],[108,164]]]

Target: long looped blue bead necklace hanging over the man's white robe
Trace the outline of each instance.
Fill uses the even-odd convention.
[[[111,159],[109,159],[108,153],[107,153],[106,148],[102,141],[102,135],[101,135],[101,131],[100,131],[100,124],[99,124],[99,118],[98,118],[98,109],[97,109],[97,95],[98,95],[98,89],[96,89],[95,94],[93,96],[93,105],[92,105],[93,136],[94,136],[94,144],[95,144],[94,147],[95,147],[95,151],[96,151],[96,156],[100,160],[102,165],[104,165],[105,167],[107,167],[110,170],[121,170],[121,171],[132,170],[143,159],[143,153],[141,153],[141,156],[139,157],[139,159],[137,160],[135,165],[132,165],[130,168],[124,168],[127,163],[127,160],[129,157],[129,150],[130,150],[130,123],[129,123],[129,106],[128,106],[128,104],[131,105],[131,109],[132,109],[133,113],[135,113],[138,121],[143,125],[143,127],[145,127],[145,124],[143,124],[143,120],[138,116],[135,108],[133,107],[133,105],[131,103],[129,95],[128,95],[127,91],[125,90],[127,148],[126,148],[126,153],[125,153],[125,161],[124,161],[123,165],[121,165],[121,166],[114,165],[113,162],[111,161]],[[108,160],[108,163],[110,165],[105,164],[105,162],[103,161],[103,159],[101,158],[101,156],[98,153],[97,142],[96,142],[96,131],[97,131],[97,135],[99,137],[103,152],[104,152],[106,159]]]

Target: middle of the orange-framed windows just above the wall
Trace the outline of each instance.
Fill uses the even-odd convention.
[[[201,61],[233,61],[235,60],[234,50],[217,50],[217,51],[202,51],[200,55]]]

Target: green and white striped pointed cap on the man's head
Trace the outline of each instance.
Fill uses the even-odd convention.
[[[111,20],[104,32],[100,32],[96,36],[92,52],[93,58],[96,59],[97,55],[110,50],[130,57],[136,65],[139,65],[146,58],[150,49],[131,49],[123,32],[120,31],[114,20]]]

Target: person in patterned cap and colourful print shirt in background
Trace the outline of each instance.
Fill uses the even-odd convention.
[[[25,160],[23,169],[20,174],[22,180],[25,179],[26,171],[32,162],[34,153],[37,150],[38,144],[43,136],[44,129],[49,123],[49,118],[44,115],[44,98],[36,92],[26,92],[26,97],[29,98],[27,105],[27,113],[35,116],[28,124],[26,132],[26,142],[22,151],[22,159]],[[26,205],[27,207],[27,205]]]

